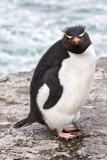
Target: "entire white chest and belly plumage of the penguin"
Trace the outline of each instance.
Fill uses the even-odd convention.
[[[43,109],[50,94],[50,89],[46,84],[40,88],[36,99],[45,122],[51,129],[62,129],[73,119],[79,118],[79,110],[85,103],[94,77],[95,52],[92,45],[80,55],[73,53],[69,55],[70,57],[62,62],[58,74],[63,86],[60,100],[52,108]]]

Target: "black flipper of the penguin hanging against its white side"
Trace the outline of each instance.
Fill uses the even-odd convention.
[[[58,66],[53,67],[49,69],[44,76],[44,83],[50,88],[49,97],[43,106],[44,109],[53,107],[62,95],[63,87],[60,85],[58,79],[58,71]]]

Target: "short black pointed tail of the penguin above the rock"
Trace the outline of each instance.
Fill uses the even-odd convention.
[[[33,122],[31,121],[30,117],[27,117],[21,121],[19,121],[18,123],[16,123],[13,128],[21,128],[21,127],[25,127],[28,126],[30,124],[32,124]]]

